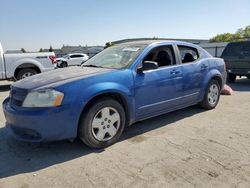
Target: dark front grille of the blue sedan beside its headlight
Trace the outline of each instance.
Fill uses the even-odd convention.
[[[12,86],[10,90],[11,106],[22,106],[27,94],[28,90]]]

